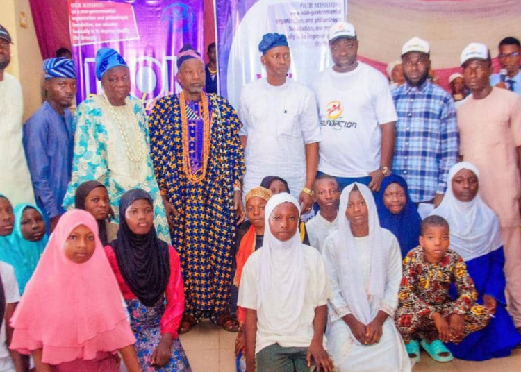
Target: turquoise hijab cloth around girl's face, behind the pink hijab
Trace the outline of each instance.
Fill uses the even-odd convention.
[[[22,216],[24,214],[24,210],[27,208],[34,208],[35,210],[38,210],[40,214],[42,214],[42,211],[35,205],[18,204],[15,207],[15,228],[13,233],[9,235],[9,240],[11,242],[10,250],[12,262],[8,263],[15,268],[20,294],[24,293],[24,289],[29,279],[31,279],[31,276],[33,276],[33,272],[36,269],[38,261],[40,260],[40,256],[42,255],[44,248],[49,241],[47,234],[44,235],[40,242],[29,242],[28,240],[24,239],[22,236]]]

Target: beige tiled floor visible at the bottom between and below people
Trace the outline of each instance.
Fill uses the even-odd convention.
[[[235,333],[226,332],[208,321],[204,321],[185,335],[181,343],[185,348],[192,372],[235,372],[233,348]],[[487,362],[465,362],[454,360],[437,363],[429,355],[422,354],[422,360],[414,366],[413,372],[520,372],[521,350],[515,350],[511,357]],[[377,371],[374,371],[377,372]]]

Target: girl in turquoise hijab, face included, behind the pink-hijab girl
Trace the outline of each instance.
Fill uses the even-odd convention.
[[[15,228],[9,236],[11,262],[8,264],[15,268],[20,294],[23,294],[49,239],[45,233],[42,211],[38,207],[19,204],[14,212]]]

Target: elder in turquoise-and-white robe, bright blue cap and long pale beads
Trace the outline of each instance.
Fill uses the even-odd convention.
[[[147,115],[140,100],[130,96],[129,67],[114,49],[96,55],[96,76],[104,92],[86,99],[76,110],[72,178],[65,208],[74,206],[76,189],[88,180],[103,184],[119,223],[119,199],[131,189],[144,189],[154,200],[158,237],[170,242],[165,208],[150,158]]]

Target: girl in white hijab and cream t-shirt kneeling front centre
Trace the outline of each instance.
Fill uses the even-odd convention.
[[[329,287],[324,261],[302,244],[299,204],[287,193],[265,210],[263,247],[247,260],[238,306],[246,309],[247,371],[333,371],[324,350]]]

